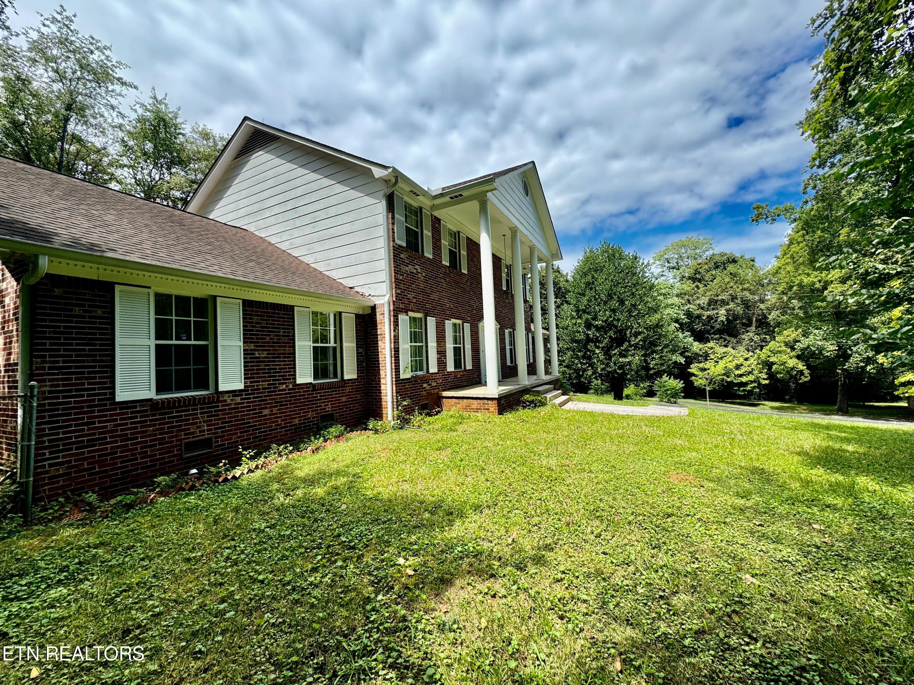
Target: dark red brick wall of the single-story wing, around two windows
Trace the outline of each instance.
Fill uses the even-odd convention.
[[[292,306],[244,300],[241,390],[114,402],[112,283],[48,275],[35,286],[32,344],[40,384],[38,498],[64,490],[116,493],[155,476],[239,458],[312,432],[317,418],[356,426],[366,418],[367,316],[356,316],[358,378],[296,384]],[[181,443],[215,437],[206,457]]]

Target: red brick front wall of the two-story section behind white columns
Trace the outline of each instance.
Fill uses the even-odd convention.
[[[480,278],[479,243],[466,240],[467,272],[451,269],[441,264],[441,222],[437,216],[431,217],[431,258],[400,246],[394,236],[393,200],[388,202],[388,228],[393,253],[394,269],[394,382],[397,402],[408,398],[415,406],[429,402],[430,406],[439,406],[438,393],[462,385],[480,383],[482,375],[479,361],[479,321],[483,319],[483,282]],[[509,236],[510,237],[510,236]],[[501,239],[501,237],[493,237]],[[505,359],[505,328],[515,327],[514,296],[510,290],[502,290],[502,260],[494,256],[493,274],[495,289],[495,321],[499,329],[499,353],[501,357],[502,376],[505,378],[517,375],[516,366],[508,366]],[[520,297],[520,293],[518,293]],[[411,378],[399,377],[399,314],[410,311],[433,316],[438,328],[438,373],[420,374]],[[447,371],[446,350],[444,347],[444,321],[459,319],[470,324],[470,339],[473,350],[473,369],[464,371]],[[524,321],[529,328],[530,303],[524,303]],[[524,344],[522,335],[517,336],[519,344]],[[537,364],[527,364],[528,374],[536,376]]]

